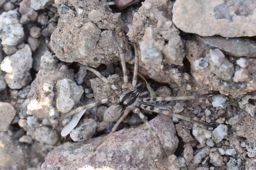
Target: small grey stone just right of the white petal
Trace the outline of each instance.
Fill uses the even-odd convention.
[[[82,119],[70,133],[73,141],[79,142],[90,139],[96,132],[97,122],[94,119]]]

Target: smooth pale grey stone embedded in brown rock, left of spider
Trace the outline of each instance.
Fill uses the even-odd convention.
[[[70,79],[59,80],[56,84],[56,107],[62,113],[69,112],[79,102],[83,88]]]

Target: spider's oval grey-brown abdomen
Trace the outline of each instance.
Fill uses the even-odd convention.
[[[122,113],[122,106],[120,104],[115,104],[107,108],[104,113],[103,119],[106,122],[113,122],[117,120]]]

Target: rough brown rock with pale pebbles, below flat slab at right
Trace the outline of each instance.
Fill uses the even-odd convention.
[[[211,49],[197,38],[185,43],[191,73],[199,90],[219,91],[225,95],[240,96],[256,90],[256,59],[245,59],[224,55],[219,49]]]

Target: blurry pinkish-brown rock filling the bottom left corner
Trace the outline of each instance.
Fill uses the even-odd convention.
[[[29,167],[30,151],[7,132],[0,132],[0,146],[1,170],[24,170]]]

